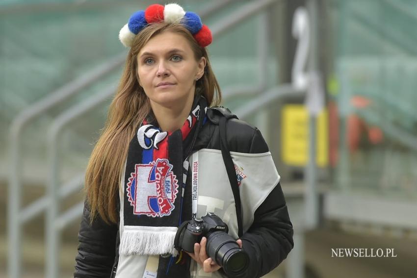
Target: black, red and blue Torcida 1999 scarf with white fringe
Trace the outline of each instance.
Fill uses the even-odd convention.
[[[130,141],[120,252],[160,255],[157,278],[190,275],[189,256],[181,256],[182,260],[174,258],[178,255],[174,238],[182,221],[191,220],[186,158],[206,123],[206,111],[206,99],[196,96],[183,126],[173,132],[162,131],[150,113]]]

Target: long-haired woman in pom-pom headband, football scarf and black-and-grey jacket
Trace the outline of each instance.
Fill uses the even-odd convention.
[[[221,93],[205,49],[209,28],[177,4],[155,4],[134,13],[119,38],[130,51],[86,171],[74,277],[226,277],[206,253],[206,237],[194,253],[174,248],[178,227],[206,212],[248,253],[240,277],[268,273],[293,248],[292,225],[260,131],[211,107]],[[220,151],[225,116],[242,202],[239,239]]]

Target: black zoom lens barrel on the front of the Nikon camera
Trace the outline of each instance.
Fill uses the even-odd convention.
[[[229,277],[243,273],[249,265],[249,256],[224,231],[215,231],[207,237],[206,251]]]

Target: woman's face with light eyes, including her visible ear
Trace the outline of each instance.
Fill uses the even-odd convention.
[[[182,107],[190,98],[192,102],[195,81],[203,76],[206,59],[196,61],[182,35],[165,31],[150,39],[139,51],[137,65],[139,84],[151,106],[175,108]]]

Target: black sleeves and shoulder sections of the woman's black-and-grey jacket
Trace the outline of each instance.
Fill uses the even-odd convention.
[[[220,150],[220,112],[226,109],[207,110],[208,122],[203,126],[193,151]],[[231,152],[268,152],[261,132],[238,119],[227,122],[227,140]],[[261,165],[260,165],[261,167]],[[78,233],[75,278],[109,278],[117,270],[119,225],[107,225],[97,217],[90,226],[89,208],[86,204]],[[243,249],[249,254],[247,278],[258,278],[277,267],[294,246],[293,229],[280,183],[255,211],[252,226],[241,237]]]

